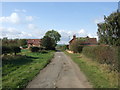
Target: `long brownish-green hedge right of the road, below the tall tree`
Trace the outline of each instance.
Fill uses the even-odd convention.
[[[118,54],[120,47],[110,47],[110,46],[86,46],[83,48],[82,53],[92,58],[92,60],[96,60],[101,64],[111,65],[112,70],[118,69],[118,58],[120,55]]]

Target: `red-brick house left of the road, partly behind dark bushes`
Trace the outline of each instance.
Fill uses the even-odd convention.
[[[28,39],[27,40],[28,48],[30,48],[31,46],[40,47],[41,40],[42,39]]]

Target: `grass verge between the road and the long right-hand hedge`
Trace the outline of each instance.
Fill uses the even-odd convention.
[[[65,53],[78,64],[93,88],[118,88],[118,73],[109,72],[107,65],[92,61],[82,54]]]

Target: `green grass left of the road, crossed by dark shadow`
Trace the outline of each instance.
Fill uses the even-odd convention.
[[[22,50],[17,56],[5,56],[2,59],[2,88],[24,88],[47,63],[54,51],[32,53]]]

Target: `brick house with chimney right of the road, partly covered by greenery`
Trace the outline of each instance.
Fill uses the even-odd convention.
[[[83,38],[83,37],[79,37],[79,38]],[[76,38],[75,35],[73,35],[73,39],[69,41],[69,48],[70,45],[78,38]],[[84,38],[85,41],[83,43],[81,43],[81,45],[83,46],[95,46],[97,45],[97,39],[96,38],[89,38],[88,36]]]

